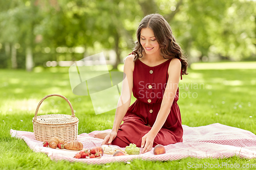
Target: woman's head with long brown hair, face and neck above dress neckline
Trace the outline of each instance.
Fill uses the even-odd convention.
[[[176,42],[169,23],[162,15],[145,16],[140,22],[136,37],[137,41],[133,51],[135,54],[134,61],[140,58],[145,62],[156,63],[154,60],[157,59],[161,63],[164,62],[164,59],[178,58],[181,61],[182,75],[187,75],[187,59]],[[151,55],[155,57],[147,58]]]

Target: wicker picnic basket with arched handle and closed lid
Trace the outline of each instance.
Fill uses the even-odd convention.
[[[72,115],[46,114],[37,116],[41,103],[50,96],[59,96],[65,99],[71,109]],[[75,116],[73,107],[65,96],[60,94],[49,94],[37,105],[35,117],[33,117],[33,130],[36,140],[49,141],[51,137],[58,137],[64,141],[76,140],[78,134],[78,118]]]

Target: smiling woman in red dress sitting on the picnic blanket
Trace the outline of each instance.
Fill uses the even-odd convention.
[[[124,62],[126,77],[112,131],[95,137],[123,148],[135,143],[145,153],[157,144],[182,142],[178,84],[187,75],[187,60],[160,14],[145,16],[136,35],[134,51]],[[137,100],[130,106],[132,91]]]

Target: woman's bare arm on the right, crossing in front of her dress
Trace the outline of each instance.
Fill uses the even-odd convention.
[[[151,151],[154,143],[154,139],[157,136],[160,129],[163,127],[166,118],[170,112],[170,108],[173,105],[175,94],[178,89],[180,79],[181,62],[179,59],[174,58],[169,64],[168,68],[168,81],[164,90],[163,100],[160,110],[158,112],[156,121],[151,130],[142,137],[141,148],[145,147],[142,153]]]

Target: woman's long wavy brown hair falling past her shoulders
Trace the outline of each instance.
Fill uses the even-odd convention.
[[[134,62],[143,57],[143,47],[140,43],[140,31],[143,28],[153,30],[157,42],[160,45],[160,53],[165,59],[178,58],[181,61],[182,75],[187,75],[187,58],[183,55],[180,45],[176,42],[169,23],[160,14],[150,14],[145,16],[137,29],[137,41],[133,53],[135,54]]]

